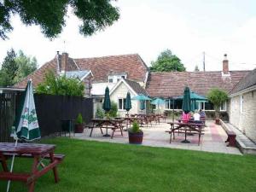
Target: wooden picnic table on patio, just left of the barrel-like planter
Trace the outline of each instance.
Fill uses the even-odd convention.
[[[125,119],[91,119],[92,126],[89,127],[91,129],[90,137],[91,137],[93,129],[95,129],[95,128],[100,128],[101,131],[102,131],[102,128],[106,129],[106,135],[103,135],[106,137],[109,136],[108,129],[111,129],[113,131],[111,138],[113,138],[113,133],[117,129],[119,129],[121,131],[121,135],[123,136],[123,127],[124,126],[122,124],[123,124],[124,120]],[[103,134],[103,131],[102,131],[102,134]]]

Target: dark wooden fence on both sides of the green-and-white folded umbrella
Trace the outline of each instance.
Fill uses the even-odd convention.
[[[61,131],[61,119],[76,119],[82,114],[86,123],[93,117],[91,98],[79,96],[34,95],[38,124],[42,137]],[[0,142],[12,141],[10,127],[14,123],[16,106],[20,105],[20,94],[0,94]]]

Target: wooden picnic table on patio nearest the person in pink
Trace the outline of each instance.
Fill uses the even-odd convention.
[[[189,143],[189,141],[187,140],[187,132],[190,131],[198,134],[198,145],[200,145],[202,131],[201,128],[204,124],[195,122],[169,122],[168,124],[171,125],[170,131],[166,131],[170,134],[170,143],[172,142],[172,135],[173,139],[175,139],[175,132],[185,133],[185,140],[183,142]]]

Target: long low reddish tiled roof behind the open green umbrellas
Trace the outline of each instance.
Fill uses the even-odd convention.
[[[186,85],[201,96],[214,87],[230,91],[249,71],[230,71],[230,76],[222,72],[170,72],[150,73],[146,90],[149,96],[172,97],[183,95]]]

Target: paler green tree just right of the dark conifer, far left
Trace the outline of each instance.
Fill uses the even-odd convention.
[[[15,77],[15,83],[19,82],[23,78],[26,78],[27,75],[37,69],[37,59],[35,57],[31,58],[30,56],[26,56],[22,50],[19,51],[15,61],[19,67]]]

